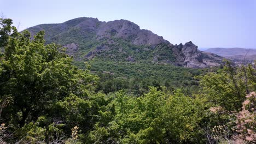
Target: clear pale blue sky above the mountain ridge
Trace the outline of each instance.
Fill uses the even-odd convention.
[[[84,16],[125,19],[172,44],[256,49],[256,0],[0,0],[0,13],[19,31]]]

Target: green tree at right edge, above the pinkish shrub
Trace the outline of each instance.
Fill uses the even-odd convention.
[[[245,72],[246,71],[246,72]],[[234,67],[226,61],[223,69],[210,72],[200,79],[201,97],[212,106],[222,106],[228,111],[239,111],[243,95],[255,91],[255,69],[251,65]]]

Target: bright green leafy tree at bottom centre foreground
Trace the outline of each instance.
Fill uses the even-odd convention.
[[[88,143],[203,143],[200,101],[180,91],[168,93],[155,87],[141,97],[115,93],[112,118],[95,124]]]

